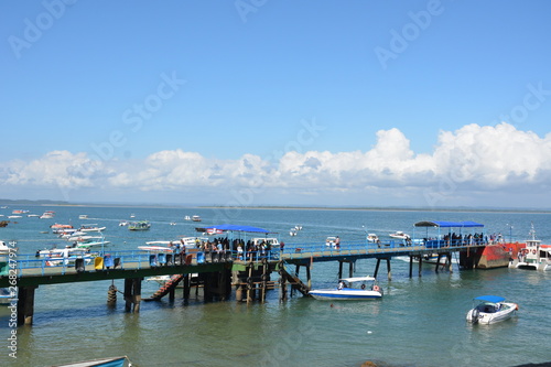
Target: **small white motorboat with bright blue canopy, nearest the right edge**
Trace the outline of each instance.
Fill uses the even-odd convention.
[[[467,312],[467,321],[476,324],[493,324],[512,317],[518,311],[518,304],[504,302],[498,295],[480,295],[473,299],[473,309]]]

